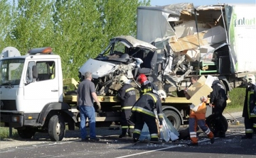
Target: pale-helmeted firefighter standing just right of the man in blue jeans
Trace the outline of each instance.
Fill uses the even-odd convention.
[[[132,137],[132,132],[134,130],[134,124],[128,122],[129,115],[131,114],[132,106],[136,102],[136,91],[131,84],[128,83],[129,79],[122,75],[119,77],[119,84],[122,85],[119,89],[117,97],[121,101],[121,125],[122,125],[122,134],[119,135],[119,138],[129,135]]]

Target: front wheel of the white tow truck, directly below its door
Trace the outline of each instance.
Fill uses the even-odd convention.
[[[65,135],[65,121],[61,115],[53,115],[48,124],[48,135],[52,141],[63,140]]]

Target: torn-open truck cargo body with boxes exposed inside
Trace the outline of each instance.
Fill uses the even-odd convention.
[[[185,86],[175,81],[184,74],[211,74],[229,90],[256,72],[255,9],[255,4],[139,6],[137,39],[168,53],[171,65],[164,75],[172,86]]]

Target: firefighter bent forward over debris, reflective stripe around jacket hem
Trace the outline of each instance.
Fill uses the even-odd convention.
[[[132,107],[130,120],[134,123],[134,142],[139,140],[144,123],[149,127],[151,141],[158,141],[158,125],[156,124],[156,113],[159,118],[159,128],[162,127],[164,114],[161,108],[161,99],[157,91],[155,93],[146,93],[140,96],[139,100]],[[156,113],[154,113],[156,111]]]

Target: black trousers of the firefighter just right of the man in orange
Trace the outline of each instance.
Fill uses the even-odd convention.
[[[223,111],[226,106],[227,106],[227,101],[225,101],[224,99],[220,99],[216,101],[215,106],[213,108],[213,115],[215,118],[214,135],[216,135],[216,137],[218,135],[225,135],[225,124],[223,123],[222,118],[223,118]]]

